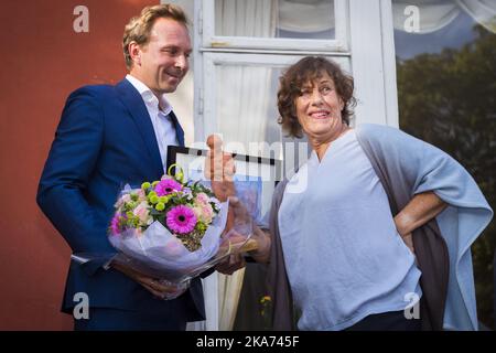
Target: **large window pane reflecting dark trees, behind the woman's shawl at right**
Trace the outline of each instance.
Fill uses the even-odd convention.
[[[459,160],[494,208],[496,34],[488,10],[496,13],[496,2],[408,1],[416,3],[410,10],[392,3],[400,127]],[[478,319],[486,327],[494,322],[495,238],[493,222],[472,247]]]

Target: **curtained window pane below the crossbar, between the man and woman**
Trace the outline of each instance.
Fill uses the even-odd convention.
[[[215,66],[216,120],[226,150],[281,159],[281,148],[272,152],[268,149],[257,151],[258,142],[272,145],[281,141],[276,105],[280,71],[279,67],[263,65]],[[273,182],[263,183],[273,185]],[[270,200],[263,202],[261,216],[269,208]],[[247,264],[233,330],[270,329],[266,320],[270,312],[266,310],[265,315],[260,313],[260,299],[268,293],[266,271],[267,266],[263,264]]]

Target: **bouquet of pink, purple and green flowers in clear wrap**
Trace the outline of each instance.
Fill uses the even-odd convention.
[[[160,181],[122,190],[109,240],[120,250],[115,260],[181,284],[239,249],[251,229],[224,232],[228,202],[200,182],[184,182],[181,171],[171,175],[173,167]]]

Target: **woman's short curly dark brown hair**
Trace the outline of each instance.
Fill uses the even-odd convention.
[[[336,93],[343,99],[344,107],[341,111],[343,122],[349,125],[352,108],[356,105],[353,96],[353,77],[346,75],[339,65],[323,56],[306,56],[290,66],[279,78],[278,109],[281,117],[278,122],[290,137],[302,137],[295,101],[301,96],[303,85],[320,78],[324,72],[333,79]]]

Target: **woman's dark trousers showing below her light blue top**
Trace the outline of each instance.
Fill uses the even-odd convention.
[[[420,331],[421,319],[407,319],[405,312],[391,311],[371,314],[345,331]]]

